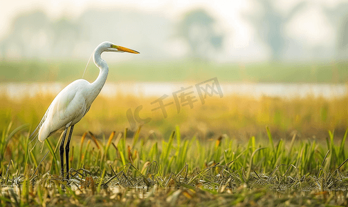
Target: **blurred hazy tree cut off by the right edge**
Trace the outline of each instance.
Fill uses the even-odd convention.
[[[323,8],[331,25],[336,29],[336,57],[348,59],[348,3],[340,3],[336,8]]]

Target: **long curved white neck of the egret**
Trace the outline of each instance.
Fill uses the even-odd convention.
[[[91,83],[91,97],[93,97],[91,101],[93,101],[95,97],[98,96],[100,90],[102,90],[105,81],[107,81],[107,74],[109,73],[109,66],[107,66],[107,62],[100,57],[102,55],[102,52],[103,50],[97,48],[95,49],[93,55],[95,66],[97,66],[100,71],[97,79],[95,79],[95,81]]]

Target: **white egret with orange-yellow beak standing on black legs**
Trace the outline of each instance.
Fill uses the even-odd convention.
[[[66,179],[68,179],[68,155],[71,135],[75,124],[86,115],[89,111],[92,102],[98,96],[100,90],[104,86],[107,80],[109,67],[107,62],[104,61],[100,56],[102,52],[130,52],[138,54],[139,52],[116,46],[111,42],[103,42],[95,48],[93,53],[93,61],[95,65],[100,69],[98,78],[93,83],[89,83],[84,79],[78,79],[66,86],[55,99],[53,99],[51,105],[48,107],[44,117],[40,121],[34,132],[38,131],[39,141],[44,141],[50,137],[54,132],[64,130],[62,136],[62,142],[59,147],[60,151],[60,174],[64,177],[64,141],[66,132],[70,127],[68,140],[65,146],[65,159],[66,159]],[[34,133],[33,132],[33,133]]]

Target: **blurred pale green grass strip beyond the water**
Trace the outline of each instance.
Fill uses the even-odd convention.
[[[149,61],[109,63],[108,81],[347,83],[347,61],[325,63],[210,63]],[[66,82],[82,77],[86,61],[0,61],[0,81]],[[93,81],[98,68],[91,62],[85,78]]]

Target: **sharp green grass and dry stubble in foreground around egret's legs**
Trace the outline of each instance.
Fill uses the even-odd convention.
[[[201,140],[124,132],[72,143],[66,181],[57,139],[30,150],[26,126],[3,130],[1,206],[329,206],[347,205],[346,130],[326,144],[296,135],[241,143],[221,135]],[[335,144],[335,139],[340,139]],[[268,140],[265,142],[265,140]],[[47,156],[46,156],[47,155]]]

